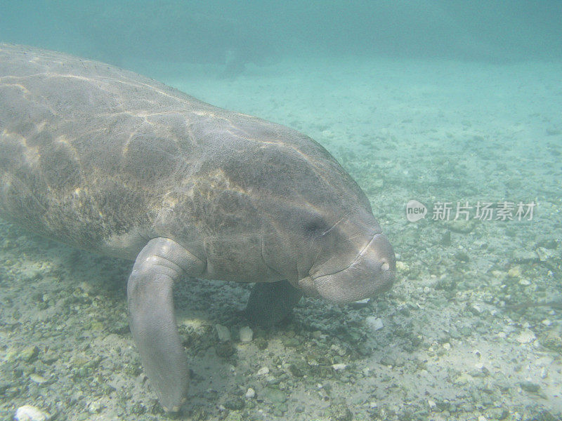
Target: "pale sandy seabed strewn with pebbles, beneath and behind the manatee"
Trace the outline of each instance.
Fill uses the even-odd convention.
[[[179,284],[192,382],[177,419],[562,418],[562,65],[303,58],[234,78],[145,72],[325,145],[398,257],[390,293],[362,307],[303,299],[248,343],[250,286]],[[410,199],[426,218],[408,222]],[[432,220],[437,202],[454,219],[457,201],[471,220]],[[532,220],[479,220],[478,201],[536,207]],[[168,417],[129,333],[130,269],[0,223],[1,419],[25,404],[56,420]]]

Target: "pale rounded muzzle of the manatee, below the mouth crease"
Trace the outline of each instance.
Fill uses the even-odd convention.
[[[308,295],[322,297],[336,303],[370,298],[391,288],[394,281],[396,258],[391,244],[381,233],[374,234],[358,255],[346,267],[329,274],[321,268],[299,281],[299,287]]]

